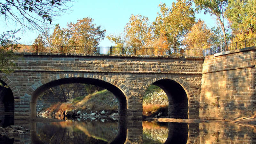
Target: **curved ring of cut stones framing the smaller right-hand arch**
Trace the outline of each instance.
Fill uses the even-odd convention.
[[[193,93],[192,89],[190,88],[190,86],[188,85],[188,83],[178,76],[174,76],[174,75],[156,76],[155,78],[152,78],[151,80],[149,80],[147,83],[144,84],[143,89],[142,89],[142,94],[144,94],[146,92],[147,88],[151,84],[155,84],[156,82],[160,82],[160,81],[164,81],[164,80],[170,80],[174,83],[179,84],[186,92],[187,100],[188,100],[188,106],[187,106],[188,115],[186,118],[188,118],[188,119],[198,118],[199,102],[196,101],[196,96],[194,95],[194,93]],[[169,110],[170,110],[170,97],[169,96],[168,96],[168,99],[169,99]],[[177,117],[172,117],[172,118],[177,118]],[[180,117],[178,117],[178,118],[180,118]]]

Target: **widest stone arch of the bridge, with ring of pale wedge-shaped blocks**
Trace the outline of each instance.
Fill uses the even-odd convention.
[[[101,81],[101,82],[104,82],[106,84],[110,84],[111,86],[113,85],[114,87],[116,87],[117,90],[120,90],[120,92],[122,92],[122,94],[124,94],[124,97],[125,97],[125,98],[122,97],[120,99],[118,99],[118,97],[117,97],[117,99],[119,100],[119,112],[120,112],[120,106],[122,106],[122,108],[123,108],[123,109],[121,108],[122,111],[124,113],[126,113],[127,100],[128,100],[128,97],[131,97],[131,92],[129,91],[129,89],[126,86],[124,86],[120,82],[113,80],[107,76],[102,76],[102,75],[98,75],[98,74],[94,74],[94,73],[64,73],[64,74],[56,74],[56,75],[44,78],[28,88],[24,97],[30,99],[30,116],[36,117],[36,99],[37,99],[36,94],[40,93],[40,90],[41,91],[46,90],[46,88],[49,87],[46,85],[48,85],[48,84],[51,85],[52,82],[56,82],[56,81],[63,82],[65,80],[76,80],[78,78],[94,79],[94,80],[98,80],[98,81]],[[75,82],[72,82],[72,83],[75,83]],[[60,85],[60,84],[57,84],[57,85]],[[55,84],[55,86],[57,86],[57,85]],[[106,88],[106,87],[104,87],[104,88]],[[108,88],[106,88],[106,89],[108,89]],[[115,92],[112,92],[112,93],[115,95]],[[118,93],[118,92],[116,92],[116,93]],[[120,114],[122,115],[122,113],[120,113]]]

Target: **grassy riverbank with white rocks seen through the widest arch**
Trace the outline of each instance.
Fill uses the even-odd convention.
[[[77,97],[69,102],[58,102],[37,112],[39,117],[83,117],[117,116],[118,102],[108,90],[102,90],[87,96]]]

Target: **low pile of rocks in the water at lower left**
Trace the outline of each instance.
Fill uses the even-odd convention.
[[[3,136],[6,136],[8,138],[12,138],[15,135],[20,135],[20,134],[26,133],[28,131],[29,131],[28,129],[25,129],[18,125],[11,125],[11,126],[7,126],[5,128],[0,127],[0,134]]]

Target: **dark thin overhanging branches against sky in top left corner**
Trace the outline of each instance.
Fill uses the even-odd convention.
[[[37,29],[41,32],[51,24],[54,16],[70,8],[70,0],[5,0],[0,2],[0,16],[6,23],[12,20],[21,27]]]

